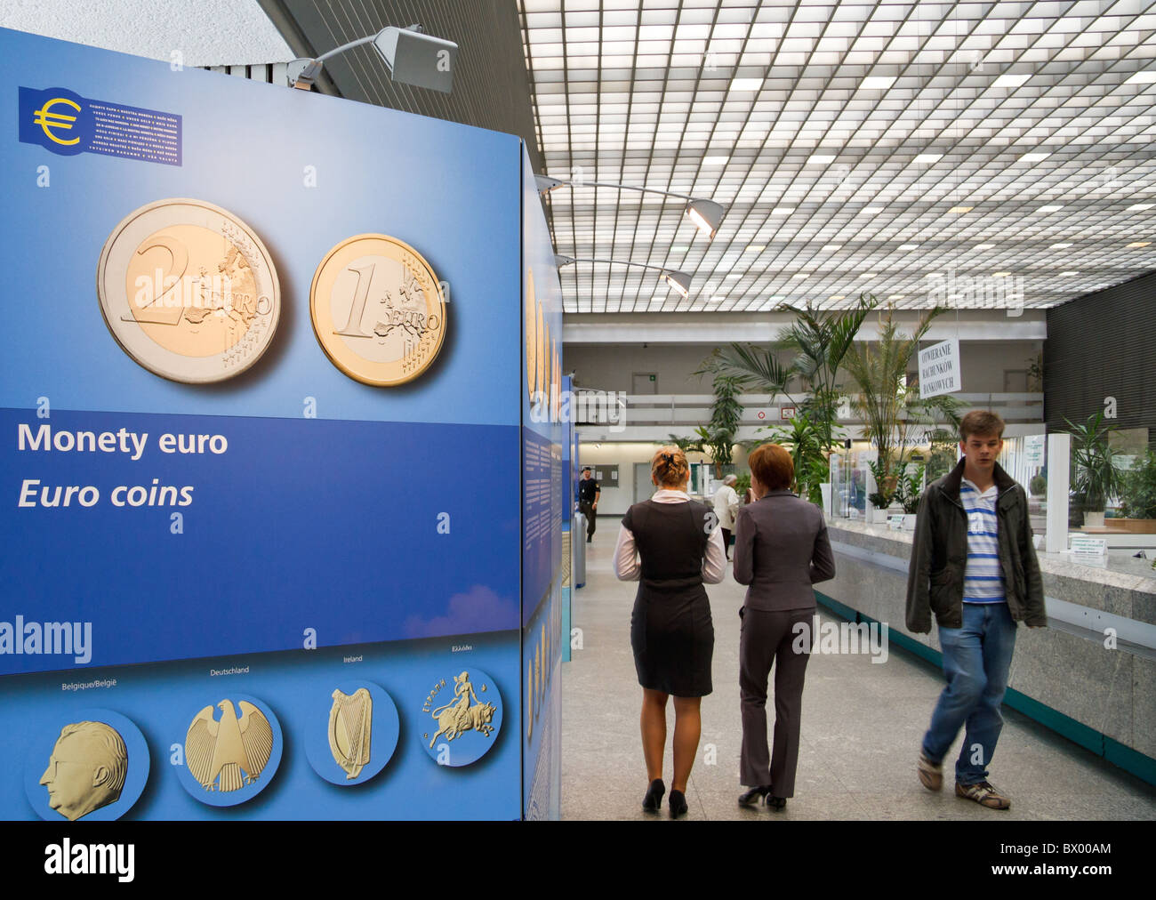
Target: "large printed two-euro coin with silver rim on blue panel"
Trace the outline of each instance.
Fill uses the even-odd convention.
[[[203,200],[157,200],[125,216],[101,251],[96,293],[121,349],[186,384],[245,371],[268,348],[281,315],[265,244]]]

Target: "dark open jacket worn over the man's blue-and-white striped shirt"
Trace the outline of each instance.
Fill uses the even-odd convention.
[[[963,626],[963,573],[968,565],[968,514],[959,502],[959,464],[927,486],[919,501],[916,540],[907,568],[907,630],[932,629],[932,613],[941,628]],[[1008,611],[1015,621],[1047,625],[1044,584],[1031,543],[1028,495],[995,464],[995,501],[1000,568]]]

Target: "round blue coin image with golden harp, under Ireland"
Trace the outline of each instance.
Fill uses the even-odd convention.
[[[364,784],[398,747],[398,707],[373,681],[329,683],[311,695],[309,709],[305,755],[331,784]]]

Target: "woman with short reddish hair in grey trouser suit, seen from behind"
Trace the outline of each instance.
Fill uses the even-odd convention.
[[[778,444],[751,452],[755,502],[735,517],[734,578],[747,588],[739,639],[742,698],[739,803],[785,809],[799,762],[802,683],[813,643],[816,582],[835,577],[822,510],[791,493],[794,462]],[[801,648],[801,649],[796,649]],[[775,669],[775,752],[766,748],[766,681]]]

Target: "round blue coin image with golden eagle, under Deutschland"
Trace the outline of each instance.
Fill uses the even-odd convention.
[[[252,799],[281,763],[281,725],[253,696],[235,694],[205,707],[185,733],[180,783],[212,806]]]

